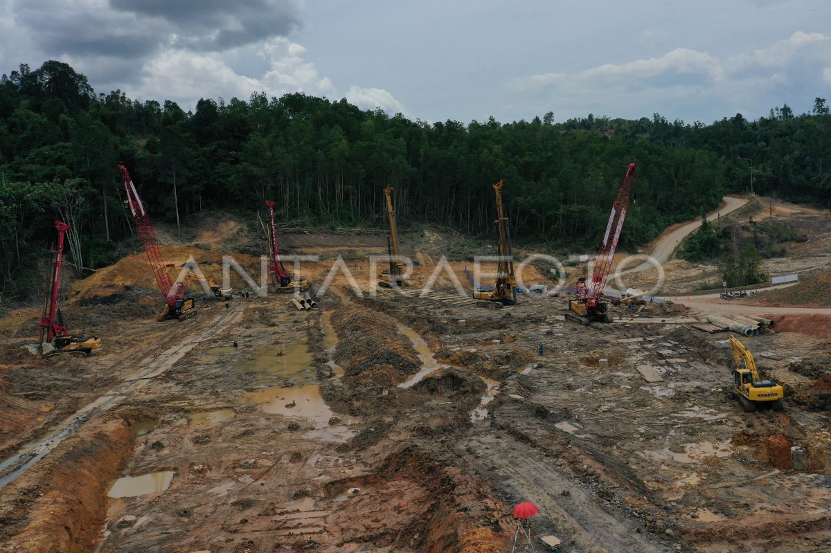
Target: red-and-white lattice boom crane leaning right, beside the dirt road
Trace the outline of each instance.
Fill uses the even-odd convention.
[[[597,255],[597,261],[594,264],[591,286],[587,285],[585,278],[579,278],[577,281],[577,296],[568,301],[566,318],[570,321],[578,322],[581,325],[588,325],[592,321],[612,322],[612,315],[608,312],[608,304],[602,299],[602,295],[609,271],[612,269],[612,259],[615,257],[615,250],[617,250],[617,241],[621,237],[623,222],[626,220],[635,169],[637,169],[637,164],[629,164],[621,188],[617,191],[615,201],[612,203],[612,213],[609,215],[606,232],[603,234],[603,240],[600,244],[600,253]]]

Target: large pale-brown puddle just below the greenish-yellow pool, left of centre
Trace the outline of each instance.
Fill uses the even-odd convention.
[[[341,423],[330,420],[336,415],[329,408],[320,394],[319,384],[306,384],[297,388],[273,387],[259,392],[249,392],[245,398],[258,405],[264,413],[279,414],[283,417],[299,418],[314,424],[314,428],[304,434],[310,439],[323,442],[344,442],[355,436],[348,428],[352,422],[349,418],[337,415]]]

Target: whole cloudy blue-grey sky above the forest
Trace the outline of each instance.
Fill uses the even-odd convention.
[[[303,91],[411,119],[711,123],[831,100],[829,0],[0,0],[0,73],[139,100]]]

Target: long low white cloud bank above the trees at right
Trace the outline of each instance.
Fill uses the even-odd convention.
[[[813,99],[823,79],[831,82],[831,68],[821,69],[829,59],[829,37],[798,31],[770,47],[738,56],[719,58],[706,51],[676,48],[662,56],[576,73],[539,73],[509,87],[547,101],[555,114],[588,109],[604,115],[611,106],[617,110],[615,116],[628,117],[658,111],[673,119],[701,113],[704,106],[714,116],[741,110],[762,114],[771,107],[765,105],[771,95],[791,105],[802,95]]]

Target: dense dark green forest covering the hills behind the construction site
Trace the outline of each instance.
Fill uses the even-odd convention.
[[[132,239],[120,161],[151,218],[171,222],[209,209],[253,213],[268,198],[287,224],[382,227],[391,184],[401,223],[486,234],[491,184],[504,179],[514,237],[577,249],[597,242],[632,161],[636,201],[623,247],[749,190],[751,171],[756,193],[831,206],[829,149],[821,98],[802,115],[783,105],[711,125],[658,114],[556,122],[550,112],[429,124],[303,94],[203,99],[185,112],[121,91],[96,95],[59,61],[22,65],[0,80],[0,301],[27,295],[55,218],[74,227],[78,265],[114,261]]]

